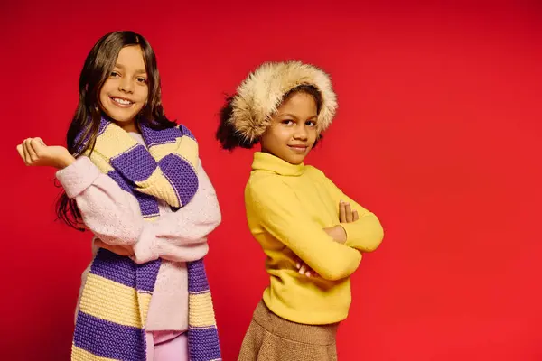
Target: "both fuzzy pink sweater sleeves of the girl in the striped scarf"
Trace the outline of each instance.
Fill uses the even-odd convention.
[[[201,259],[209,248],[206,236],[220,224],[220,208],[210,179],[198,170],[200,186],[189,204],[155,222],[141,216],[137,199],[90,162],[80,157],[57,179],[68,197],[75,199],[87,227],[109,245],[131,245],[137,263],[158,257],[190,262]]]

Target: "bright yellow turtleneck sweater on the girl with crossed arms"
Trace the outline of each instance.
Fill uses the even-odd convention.
[[[347,234],[344,245],[323,230],[340,224],[341,200],[360,215],[356,222],[341,224]],[[378,218],[322,171],[268,153],[254,155],[245,203],[248,227],[267,255],[267,307],[283,319],[309,325],[346,319],[350,274],[360,265],[360,251],[374,251],[384,236]],[[298,273],[296,256],[321,277]]]

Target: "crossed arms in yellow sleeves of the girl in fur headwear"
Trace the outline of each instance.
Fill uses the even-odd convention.
[[[322,229],[316,221],[306,217],[294,190],[273,177],[249,181],[245,194],[248,215],[255,217],[260,227],[300,258],[300,273],[306,273],[310,268],[324,279],[340,280],[357,269],[360,251],[376,249],[382,232],[378,218],[337,190],[332,190],[332,195],[337,198],[337,210],[346,223],[334,227]],[[345,202],[340,203],[341,199]],[[352,225],[354,227],[349,227]],[[366,227],[376,227],[380,231],[368,233]],[[304,270],[301,269],[303,266]]]

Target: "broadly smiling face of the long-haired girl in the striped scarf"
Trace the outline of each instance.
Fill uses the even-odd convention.
[[[115,68],[99,91],[102,111],[128,132],[135,132],[135,116],[149,95],[143,52],[137,45],[118,52]]]

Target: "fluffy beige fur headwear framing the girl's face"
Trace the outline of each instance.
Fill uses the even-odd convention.
[[[246,141],[257,142],[285,94],[301,85],[312,85],[322,94],[316,122],[318,134],[322,134],[332,124],[337,97],[328,74],[300,61],[266,62],[250,73],[233,97],[229,123]]]

